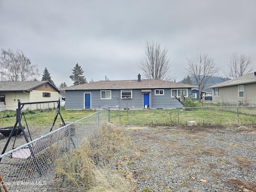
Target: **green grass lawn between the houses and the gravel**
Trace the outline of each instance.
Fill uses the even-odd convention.
[[[239,111],[239,114],[238,114]],[[61,110],[65,122],[76,121],[96,110]],[[52,125],[56,110],[26,110],[24,112],[28,125]],[[22,118],[24,119],[24,118]],[[0,126],[12,126],[16,121],[14,111],[0,112]],[[135,124],[146,126],[186,125],[188,121],[196,121],[201,126],[211,125],[247,125],[256,122],[255,108],[181,108],[154,110],[111,110],[110,122],[114,124]],[[56,124],[60,123],[58,116]]]

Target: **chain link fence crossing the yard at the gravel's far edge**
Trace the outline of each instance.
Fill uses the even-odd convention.
[[[205,106],[112,110],[111,123],[177,126],[196,121],[197,125],[253,125],[255,106]]]

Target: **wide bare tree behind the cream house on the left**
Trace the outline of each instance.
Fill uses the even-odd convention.
[[[6,81],[36,80],[39,71],[37,65],[32,65],[30,59],[21,50],[4,50],[0,53],[1,79]]]

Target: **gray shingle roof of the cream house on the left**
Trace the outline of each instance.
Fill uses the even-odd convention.
[[[58,92],[58,88],[49,81],[0,81],[0,92],[32,91],[34,88],[49,83]]]

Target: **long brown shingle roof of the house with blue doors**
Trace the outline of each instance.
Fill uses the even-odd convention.
[[[119,80],[96,81],[92,83],[74,85],[64,90],[96,90],[96,89],[152,89],[152,88],[192,88],[195,85],[183,84],[164,80]]]

